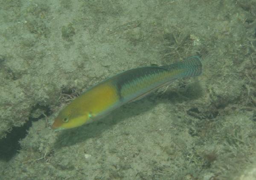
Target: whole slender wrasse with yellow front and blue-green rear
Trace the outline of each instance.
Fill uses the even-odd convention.
[[[52,129],[70,129],[97,120],[176,79],[198,76],[201,72],[202,64],[198,56],[171,65],[124,71],[96,84],[74,99],[60,111]]]

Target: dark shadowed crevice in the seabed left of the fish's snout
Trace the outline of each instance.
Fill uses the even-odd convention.
[[[42,109],[47,116],[52,113],[48,106],[36,105],[32,111],[36,109]],[[19,141],[26,137],[27,131],[32,126],[32,122],[43,117],[43,114],[37,118],[29,117],[29,120],[23,126],[13,127],[12,131],[6,134],[6,138],[0,139],[0,160],[7,162],[17,154],[21,149]]]

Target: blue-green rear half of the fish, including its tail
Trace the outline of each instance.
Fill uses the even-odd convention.
[[[167,66],[142,67],[125,71],[114,77],[113,83],[118,89],[120,100],[126,103],[178,78],[198,76],[201,71],[200,58],[193,56],[183,62]]]

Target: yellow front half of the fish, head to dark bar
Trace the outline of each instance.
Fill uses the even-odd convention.
[[[119,102],[116,86],[111,80],[103,81],[76,97],[60,111],[52,129],[70,129],[103,117]],[[110,109],[110,110],[109,110]]]

